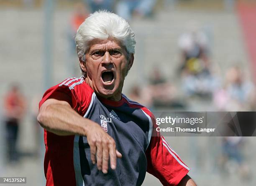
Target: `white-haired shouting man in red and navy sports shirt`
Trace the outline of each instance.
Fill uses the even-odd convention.
[[[195,186],[189,168],[153,114],[122,94],[134,60],[134,32],[118,15],[90,15],[75,37],[81,78],[51,87],[39,104],[47,186],[141,185],[146,171],[164,185]]]

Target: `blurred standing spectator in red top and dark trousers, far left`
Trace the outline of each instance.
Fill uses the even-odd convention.
[[[18,161],[17,137],[19,132],[20,120],[23,118],[26,109],[26,101],[20,93],[17,84],[10,87],[4,100],[5,109],[5,126],[6,126],[6,141],[7,141],[7,159]]]

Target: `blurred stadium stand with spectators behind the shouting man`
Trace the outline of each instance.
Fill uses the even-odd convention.
[[[74,35],[98,9],[136,33],[131,99],[153,112],[256,110],[255,0],[0,0],[0,177],[45,185],[38,102],[80,76]],[[256,185],[255,137],[166,140],[199,186]],[[147,174],[143,185],[161,183]]]

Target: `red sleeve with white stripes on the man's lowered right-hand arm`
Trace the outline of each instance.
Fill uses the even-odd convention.
[[[189,171],[164,136],[156,132],[155,127],[146,156],[148,173],[158,178],[164,186],[177,186]]]

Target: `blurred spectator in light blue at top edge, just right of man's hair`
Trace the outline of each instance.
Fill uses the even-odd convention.
[[[156,0],[120,0],[116,12],[125,20],[131,20],[132,15],[146,17],[152,14]]]

